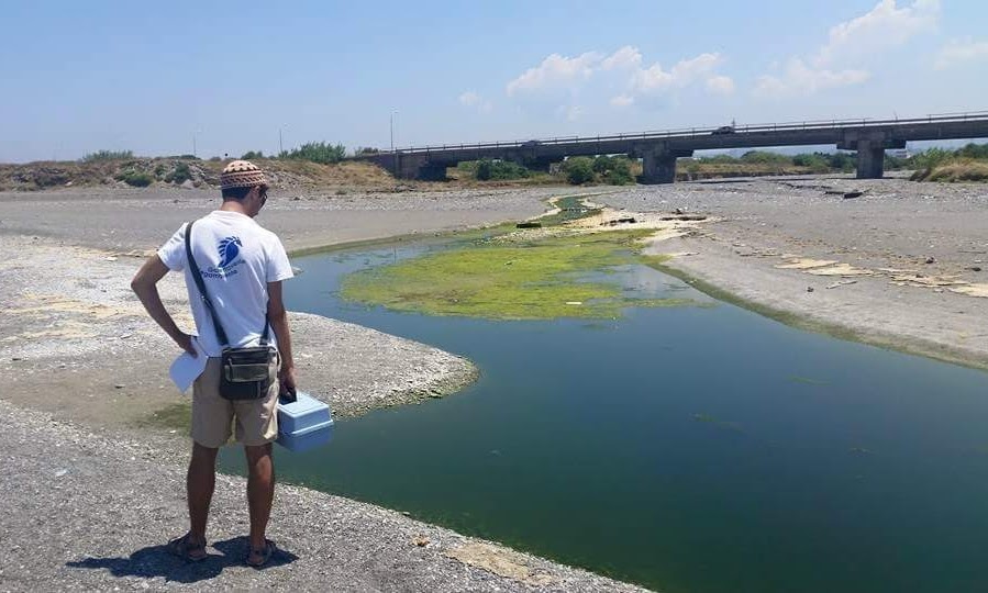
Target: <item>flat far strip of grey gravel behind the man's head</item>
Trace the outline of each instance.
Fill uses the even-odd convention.
[[[276,189],[257,221],[292,251],[525,219],[541,214],[542,200],[560,191],[573,192],[536,188],[324,195]],[[0,192],[0,235],[143,254],[219,204],[215,190]]]

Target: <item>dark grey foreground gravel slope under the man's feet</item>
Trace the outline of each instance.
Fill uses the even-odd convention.
[[[0,402],[0,591],[641,591],[400,513],[279,485],[273,566],[243,564],[245,480],[220,475],[210,558],[164,544],[187,524],[185,471],[152,443],[108,439]]]

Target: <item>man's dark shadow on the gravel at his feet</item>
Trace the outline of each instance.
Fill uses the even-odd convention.
[[[107,569],[114,577],[141,577],[154,579],[164,577],[166,581],[178,583],[195,583],[218,577],[227,567],[244,567],[249,549],[246,537],[234,537],[217,541],[213,548],[222,553],[207,548],[209,556],[198,562],[190,562],[178,558],[168,551],[167,546],[148,546],[141,548],[129,558],[85,558],[82,560],[66,562],[69,568]],[[290,564],[299,557],[278,549],[271,556],[265,569]]]

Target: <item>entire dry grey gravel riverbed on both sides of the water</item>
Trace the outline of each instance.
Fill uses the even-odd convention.
[[[543,199],[567,192],[282,193],[259,222],[300,250],[532,217]],[[593,224],[662,227],[647,253],[673,255],[671,271],[721,296],[795,325],[988,367],[988,186],[777,178],[614,188],[592,200],[612,209]],[[624,586],[291,486],[279,488],[274,529],[291,553],[271,574],[254,573],[235,566],[238,478],[219,484],[212,563],[164,555],[156,546],[184,521],[187,441],[171,426],[184,400],[166,374],[175,349],[127,282],[149,250],[217,203],[197,190],[0,193],[0,544],[11,550],[0,589],[253,589],[275,578],[301,590]],[[677,211],[706,219],[658,221]],[[189,327],[175,275],[163,296]],[[292,323],[303,385],[340,416],[453,393],[476,372],[352,324],[303,314]]]

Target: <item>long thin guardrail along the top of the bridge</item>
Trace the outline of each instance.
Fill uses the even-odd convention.
[[[941,113],[936,115],[926,115],[924,118],[906,118],[891,120],[875,120],[870,118],[857,120],[813,120],[804,122],[787,122],[771,124],[745,124],[733,126],[733,134],[755,134],[759,132],[797,132],[797,131],[826,131],[826,130],[855,130],[862,127],[876,127],[887,125],[908,125],[924,123],[955,123],[955,122],[988,122],[988,111],[972,111],[958,113]],[[646,131],[632,132],[621,134],[609,134],[603,136],[556,136],[552,138],[529,138],[523,141],[498,141],[481,142],[475,144],[442,144],[429,146],[411,146],[407,148],[396,148],[401,154],[429,154],[446,150],[479,150],[485,148],[526,148],[533,146],[553,146],[571,143],[584,142],[614,142],[630,139],[668,139],[668,138],[693,138],[697,136],[709,136],[721,130],[722,126],[714,127],[684,127],[678,130]]]

